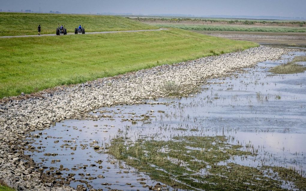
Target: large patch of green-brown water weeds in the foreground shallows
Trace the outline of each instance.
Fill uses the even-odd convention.
[[[282,190],[285,181],[293,182],[297,189],[305,188],[306,178],[294,170],[226,162],[256,156],[257,152],[252,146],[243,150],[241,145],[229,144],[225,136],[184,136],[169,141],[139,139],[133,144],[115,138],[107,153],[174,188]]]

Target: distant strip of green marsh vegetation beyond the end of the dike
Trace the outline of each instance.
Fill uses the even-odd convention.
[[[159,28],[179,28],[189,31],[241,31],[241,32],[306,32],[306,27],[253,27],[232,25],[203,25],[203,24],[154,24]]]

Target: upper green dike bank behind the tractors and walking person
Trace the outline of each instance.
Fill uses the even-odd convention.
[[[116,16],[46,14],[46,13],[0,13],[0,36],[36,35],[40,24],[41,34],[55,34],[58,24],[65,25],[68,33],[80,24],[85,32],[157,29],[135,20]]]

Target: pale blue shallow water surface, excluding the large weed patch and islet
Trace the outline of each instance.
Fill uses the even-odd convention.
[[[304,53],[294,52],[284,55],[280,61],[262,62],[255,68],[245,69],[231,77],[209,80],[203,85],[201,93],[191,97],[161,98],[148,100],[148,104],[143,105],[105,107],[90,113],[109,115],[98,120],[65,120],[56,123],[54,127],[43,130],[42,136],[34,138],[33,146],[46,148],[40,149],[42,152],[25,154],[31,154],[40,166],[59,168],[62,164],[68,169],[75,167],[77,170],[62,171],[62,177],[74,173],[76,180],[86,180],[95,189],[144,190],[140,182],[146,182],[147,185],[157,182],[144,173],[134,172],[135,169],[111,155],[99,154],[89,143],[96,140],[99,143],[94,145],[107,147],[116,136],[135,141],[141,137],[170,140],[177,135],[225,135],[231,137],[230,143],[254,145],[259,151],[257,156],[243,159],[233,157],[222,164],[234,162],[252,167],[293,167],[305,177],[306,73],[273,75],[267,72],[269,67],[284,63],[294,55]],[[144,119],[142,114],[150,117]],[[132,124],[131,120],[123,119],[132,119],[137,123]],[[67,148],[60,147],[64,144],[68,144]],[[81,144],[86,146],[82,147]],[[73,147],[75,149],[71,149]],[[100,151],[103,152],[103,149]],[[45,153],[58,153],[58,156],[44,156]],[[51,163],[51,160],[61,161]],[[96,163],[98,160],[103,162]],[[91,167],[93,164],[95,166]],[[88,167],[79,169],[84,165]],[[101,174],[105,178],[88,180],[85,178],[90,176],[82,177],[79,173],[90,173],[91,177]],[[137,181],[139,178],[147,180]],[[104,182],[111,185],[101,185]],[[70,183],[75,188],[78,184],[81,183]],[[288,185],[284,187],[290,188]]]

